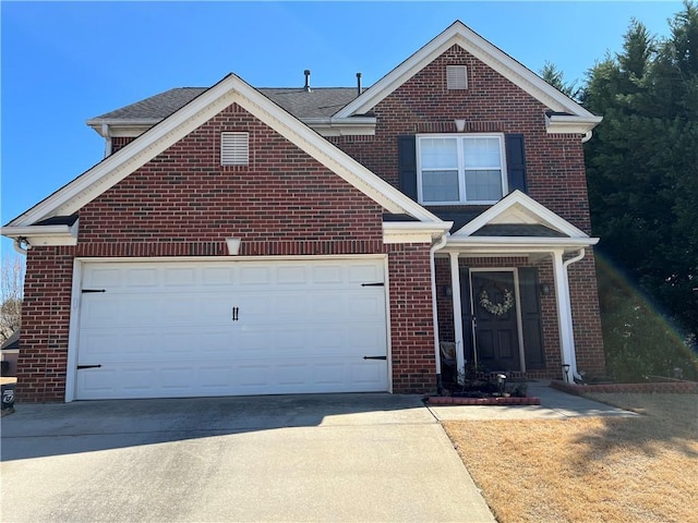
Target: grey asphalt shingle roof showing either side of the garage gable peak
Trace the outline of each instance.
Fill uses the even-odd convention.
[[[178,87],[91,120],[161,120],[207,90],[207,87]],[[357,97],[356,87],[264,87],[257,89],[296,118],[328,118]]]

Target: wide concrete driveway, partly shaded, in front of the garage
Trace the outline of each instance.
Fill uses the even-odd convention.
[[[494,521],[414,396],[15,408],[3,522]]]

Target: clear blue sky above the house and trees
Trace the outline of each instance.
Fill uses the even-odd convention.
[[[89,169],[85,120],[234,72],[256,87],[369,86],[455,20],[568,81],[622,49],[631,17],[667,35],[662,2],[15,2],[1,15],[2,224]],[[2,254],[12,251],[2,241]]]

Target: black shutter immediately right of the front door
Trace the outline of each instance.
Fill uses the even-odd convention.
[[[524,331],[524,354],[526,368],[545,368],[543,329],[541,325],[541,302],[535,267],[519,268],[519,291],[521,299],[521,330]]]

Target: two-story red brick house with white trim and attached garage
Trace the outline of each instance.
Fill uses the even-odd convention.
[[[230,74],[89,120],[105,159],[2,228],[27,255],[17,397],[601,373],[600,121],[460,22],[370,88]]]

